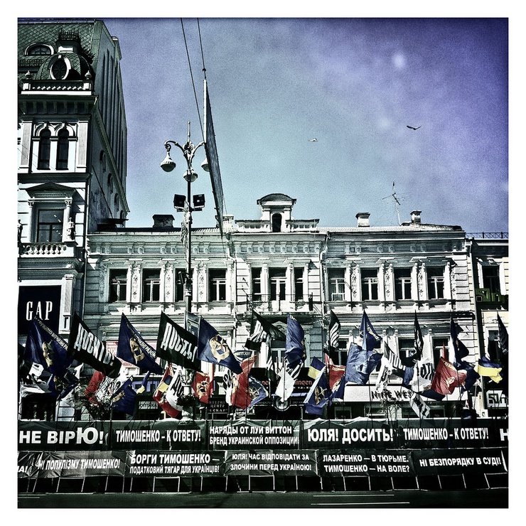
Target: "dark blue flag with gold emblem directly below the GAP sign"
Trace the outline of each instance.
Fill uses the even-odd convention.
[[[65,375],[73,362],[68,344],[55,334],[40,318],[33,318],[26,338],[23,359],[38,363],[52,375]]]

